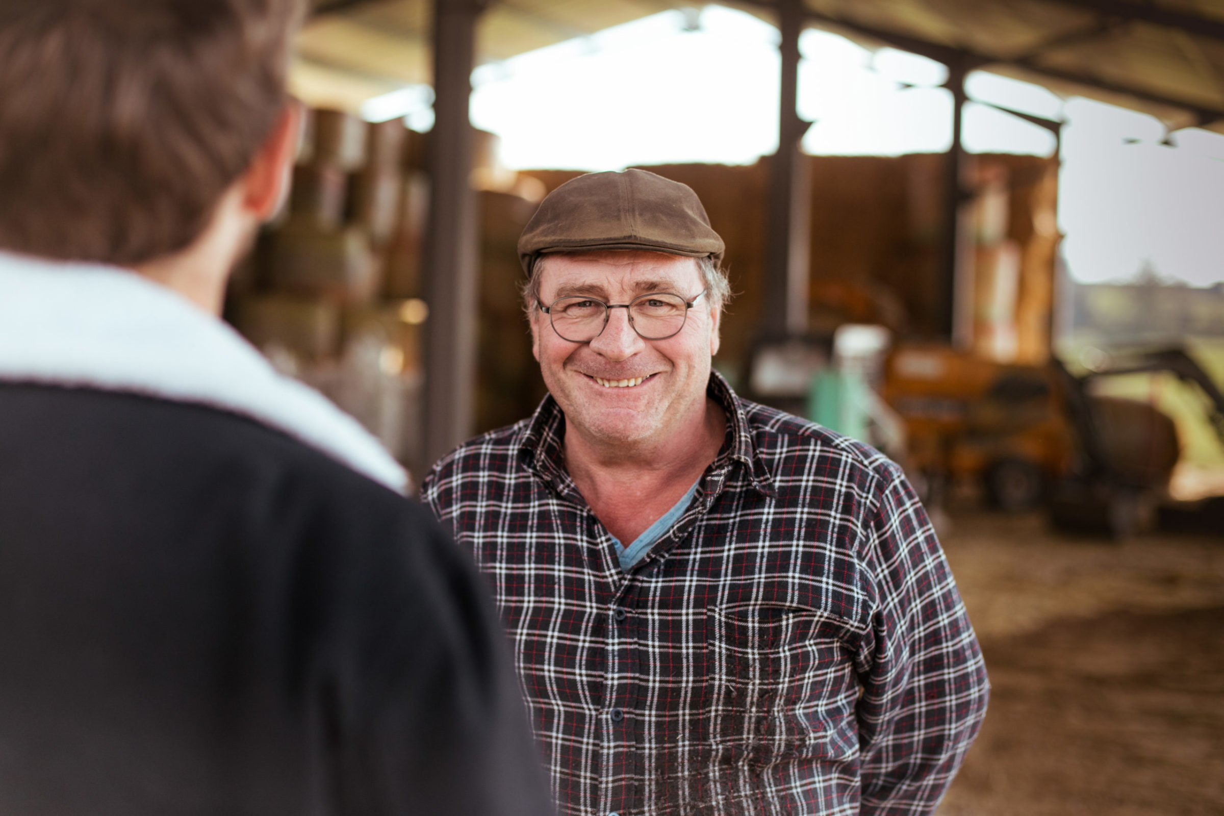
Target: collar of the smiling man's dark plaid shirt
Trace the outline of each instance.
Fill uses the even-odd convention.
[[[752,427],[744,411],[745,402],[716,371],[710,372],[706,394],[714,399],[727,415],[727,434],[722,449],[714,464],[706,470],[703,493],[706,497],[722,492],[736,465],[742,466],[754,488],[765,495],[774,495],[774,478],[753,438]],[[519,437],[517,455],[528,470],[542,482],[552,484],[557,492],[567,493],[573,482],[565,471],[565,458],[562,442],[565,437],[565,414],[557,400],[548,394],[540,402],[531,420]]]

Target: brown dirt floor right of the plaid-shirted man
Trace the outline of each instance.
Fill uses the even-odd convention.
[[[993,685],[939,816],[1224,814],[1224,532],[942,536]]]

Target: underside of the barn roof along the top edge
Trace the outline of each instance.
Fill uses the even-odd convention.
[[[704,4],[684,4],[688,7]],[[728,2],[772,20],[770,2]],[[809,24],[965,70],[1224,131],[1224,0],[805,0]],[[428,83],[428,0],[322,0],[295,89],[312,104]],[[667,9],[667,0],[494,0],[477,61],[503,60]]]

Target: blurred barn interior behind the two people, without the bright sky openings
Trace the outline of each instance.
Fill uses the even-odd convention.
[[[508,168],[470,124],[471,73],[701,5],[317,1],[293,72],[310,116],[291,201],[235,275],[226,318],[417,477],[528,416],[545,388],[515,242],[580,171]],[[1224,132],[1224,4],[727,5],[777,28],[781,147],[646,169],[693,187],[727,243],[718,371],[887,453],[940,530],[994,683],[940,812],[1220,812],[1224,283],[1071,283],[1065,122],[1000,108],[1054,136],[1048,157],[969,153],[961,132],[974,71],[1142,111],[1166,139]],[[945,66],[951,147],[804,153],[812,28]],[[424,86],[427,132],[362,117]]]

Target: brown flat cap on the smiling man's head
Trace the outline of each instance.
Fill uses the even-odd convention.
[[[722,261],[725,246],[688,185],[646,170],[588,172],[540,202],[523,235],[519,261],[528,272],[543,252],[649,250]]]

